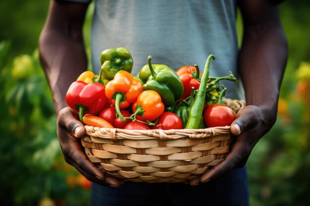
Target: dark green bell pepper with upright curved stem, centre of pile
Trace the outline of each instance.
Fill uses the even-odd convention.
[[[152,57],[148,57],[151,76],[143,85],[143,90],[154,90],[160,97],[165,107],[170,107],[183,95],[183,84],[173,69],[158,67],[153,69],[151,64]]]

